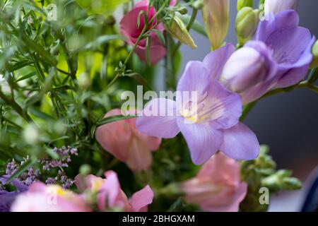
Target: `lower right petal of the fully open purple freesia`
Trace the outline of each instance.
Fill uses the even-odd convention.
[[[220,150],[236,160],[252,160],[259,155],[257,136],[245,124],[238,123],[224,130]]]

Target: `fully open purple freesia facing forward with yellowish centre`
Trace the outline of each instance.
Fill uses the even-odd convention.
[[[240,95],[218,81],[225,62],[234,51],[232,45],[218,49],[201,61],[190,61],[177,85],[177,93],[196,93],[184,101],[153,99],[136,120],[139,131],[149,136],[173,138],[181,131],[196,165],[221,150],[228,157],[249,160],[257,157],[259,142],[254,133],[239,122]],[[174,114],[160,114],[174,112]]]

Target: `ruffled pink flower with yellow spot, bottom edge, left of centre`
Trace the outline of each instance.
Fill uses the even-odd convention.
[[[153,202],[153,191],[145,186],[137,191],[130,199],[122,191],[117,174],[113,171],[105,172],[106,179],[88,175],[76,176],[75,184],[80,191],[91,191],[97,194],[100,210],[119,208],[125,212],[144,212]]]

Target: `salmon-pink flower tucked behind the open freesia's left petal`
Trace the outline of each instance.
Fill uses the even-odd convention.
[[[119,114],[119,109],[113,109],[105,114],[105,117]],[[151,151],[158,150],[161,143],[160,138],[139,132],[136,129],[136,119],[114,121],[100,126],[96,130],[95,138],[102,148],[136,172],[150,167]]]

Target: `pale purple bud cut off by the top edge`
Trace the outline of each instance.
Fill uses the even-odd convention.
[[[297,9],[298,0],[265,0],[265,14],[279,13],[289,9]]]

